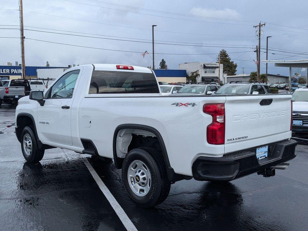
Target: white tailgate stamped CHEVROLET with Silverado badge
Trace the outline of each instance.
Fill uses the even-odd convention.
[[[225,153],[291,137],[291,95],[226,96]]]

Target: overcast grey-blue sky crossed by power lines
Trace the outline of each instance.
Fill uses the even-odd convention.
[[[136,7],[143,9],[136,9]],[[0,8],[14,9],[0,10],[0,24],[17,25],[1,26],[1,28],[18,28],[18,0],[0,0]],[[178,69],[178,64],[185,62],[212,62],[219,51],[225,49],[232,59],[239,59],[233,60],[238,64],[237,74],[242,73],[242,67],[245,67],[245,73],[256,71],[256,65],[253,62],[256,56],[253,49],[257,45],[257,39],[255,37],[256,29],[253,28],[253,25],[257,25],[259,21],[266,23],[266,26],[262,27],[264,38],[261,40],[261,46],[266,46],[266,36],[273,36],[269,38],[269,47],[275,51],[269,52],[269,59],[298,60],[308,58],[308,53],[298,55],[299,53],[308,52],[308,40],[306,39],[308,36],[308,2],[305,0],[292,2],[281,0],[249,1],[249,3],[244,0],[24,0],[23,9],[24,28],[29,29],[25,30],[25,37],[28,38],[25,40],[25,61],[27,66],[45,66],[47,60],[51,66],[63,67],[68,64],[81,65],[89,63],[152,66],[152,24],[157,25],[155,27],[156,43],[189,45],[156,44],[155,53],[166,53],[155,55],[156,67],[159,66],[161,59],[165,59],[169,69]],[[184,16],[183,14],[190,16]],[[0,29],[0,33],[0,37],[20,36],[19,30]],[[143,43],[120,40],[142,41]],[[56,43],[120,51],[74,47]],[[141,53],[146,50],[151,57],[149,55],[144,58],[141,56]],[[265,51],[265,49],[261,51]],[[275,55],[272,53],[275,53]],[[7,62],[12,62],[14,65],[15,61],[20,63],[20,40],[0,38],[0,54],[0,65],[3,63],[6,65]],[[293,55],[297,56],[288,57]],[[264,59],[265,53],[261,52],[261,60]],[[268,72],[288,75],[287,68],[274,67],[273,64],[269,64]],[[265,64],[261,64],[261,73],[265,73]]]

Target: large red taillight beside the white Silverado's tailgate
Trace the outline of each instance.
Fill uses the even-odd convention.
[[[204,104],[203,112],[212,115],[213,118],[213,122],[206,128],[207,142],[209,144],[225,144],[225,104]]]

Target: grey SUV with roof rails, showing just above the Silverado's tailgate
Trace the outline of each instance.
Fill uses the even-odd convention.
[[[215,94],[264,95],[270,94],[270,87],[255,81],[235,81],[222,86]]]

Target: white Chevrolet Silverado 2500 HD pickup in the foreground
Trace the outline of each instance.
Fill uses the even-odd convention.
[[[28,162],[55,147],[112,158],[132,201],[152,207],[178,180],[285,169],[291,116],[291,95],[161,96],[151,69],[91,64],[19,99],[16,136]]]

